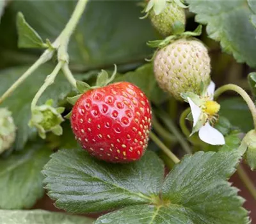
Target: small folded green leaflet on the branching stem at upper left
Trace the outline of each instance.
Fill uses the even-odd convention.
[[[24,48],[45,48],[42,38],[36,33],[35,29],[29,26],[24,15],[19,12],[17,14],[17,29],[18,29],[18,46]]]

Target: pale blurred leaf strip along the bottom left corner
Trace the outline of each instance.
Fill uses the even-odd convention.
[[[44,210],[0,210],[0,223],[4,224],[92,224],[92,218],[71,216]]]

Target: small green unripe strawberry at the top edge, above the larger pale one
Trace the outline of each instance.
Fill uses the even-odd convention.
[[[186,16],[184,8],[181,8],[174,1],[166,2],[164,10],[156,15],[154,10],[150,10],[149,18],[154,28],[163,36],[169,36],[173,33],[173,24],[179,21],[185,25]]]

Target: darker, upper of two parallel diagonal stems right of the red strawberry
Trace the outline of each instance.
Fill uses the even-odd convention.
[[[168,129],[176,136],[177,140],[179,141],[181,147],[184,149],[184,151],[187,154],[191,154],[191,149],[188,145],[188,142],[184,139],[182,134],[180,133],[179,129],[176,127],[176,125],[170,120],[168,115],[162,110],[157,110],[157,113],[159,114],[159,118],[163,120],[164,124],[168,127]]]

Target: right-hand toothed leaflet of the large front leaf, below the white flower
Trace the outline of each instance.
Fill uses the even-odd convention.
[[[243,198],[227,182],[243,153],[234,149],[184,157],[166,177],[163,200],[182,206],[193,223],[248,223]]]

